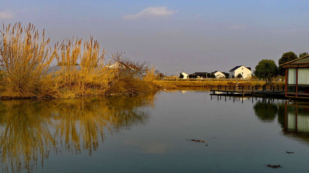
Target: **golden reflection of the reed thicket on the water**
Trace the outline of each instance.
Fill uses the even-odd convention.
[[[141,97],[0,102],[2,172],[43,167],[50,152],[89,155],[106,132],[117,134],[148,121],[154,94]]]

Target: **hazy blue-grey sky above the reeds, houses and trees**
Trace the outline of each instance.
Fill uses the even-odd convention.
[[[93,36],[164,74],[228,72],[285,52],[309,52],[309,1],[2,0],[4,26],[33,23],[50,46]],[[2,27],[1,27],[2,28]]]

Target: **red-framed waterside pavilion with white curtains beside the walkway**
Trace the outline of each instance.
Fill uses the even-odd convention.
[[[281,65],[286,70],[285,96],[309,98],[309,55]]]

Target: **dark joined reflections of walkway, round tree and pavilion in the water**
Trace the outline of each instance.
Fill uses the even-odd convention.
[[[283,99],[265,97],[241,97],[213,95],[211,99],[220,101],[252,101],[257,119],[262,123],[274,123],[277,117],[282,127],[282,135],[301,141],[309,146],[309,102],[288,102]],[[254,103],[255,101],[255,103]]]

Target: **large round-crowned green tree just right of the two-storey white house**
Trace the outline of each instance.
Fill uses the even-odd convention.
[[[253,72],[257,78],[265,79],[267,84],[272,82],[271,78],[276,77],[278,74],[278,67],[273,60],[263,59],[256,66],[255,71]]]

